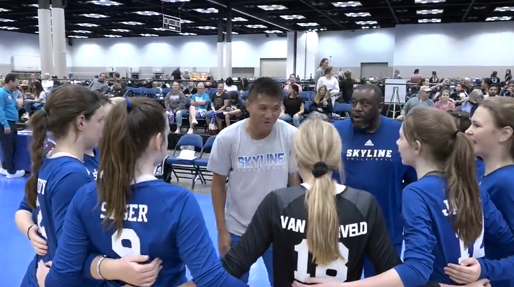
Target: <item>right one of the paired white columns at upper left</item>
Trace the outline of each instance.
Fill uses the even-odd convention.
[[[54,74],[62,79],[68,74],[66,67],[66,30],[63,0],[52,0],[52,46]]]

